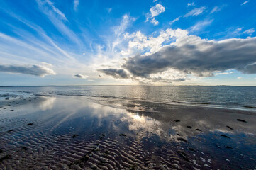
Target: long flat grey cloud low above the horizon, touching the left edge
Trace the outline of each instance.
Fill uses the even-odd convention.
[[[30,74],[38,77],[44,77],[47,74],[55,74],[52,69],[40,65],[3,65],[0,64],[0,72]]]

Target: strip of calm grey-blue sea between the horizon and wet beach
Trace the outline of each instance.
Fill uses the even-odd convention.
[[[11,86],[0,98],[17,92],[256,110],[256,86]]]

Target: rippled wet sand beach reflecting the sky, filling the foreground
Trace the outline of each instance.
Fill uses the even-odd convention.
[[[256,113],[82,96],[6,96],[0,169],[256,169]]]

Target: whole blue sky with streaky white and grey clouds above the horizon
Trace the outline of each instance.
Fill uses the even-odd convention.
[[[256,86],[255,0],[0,3],[0,86]]]

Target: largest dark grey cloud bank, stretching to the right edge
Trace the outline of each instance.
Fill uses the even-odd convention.
[[[187,35],[152,55],[130,57],[123,68],[135,77],[148,77],[167,69],[199,77],[213,76],[213,72],[227,69],[255,74],[256,38],[210,41]]]

